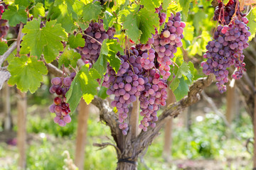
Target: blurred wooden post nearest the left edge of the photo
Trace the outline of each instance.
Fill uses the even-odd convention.
[[[11,103],[10,103],[10,87],[5,84],[3,89],[4,96],[4,130],[11,130]]]

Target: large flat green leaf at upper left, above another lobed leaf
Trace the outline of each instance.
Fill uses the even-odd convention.
[[[41,19],[33,19],[24,26],[25,33],[21,42],[21,54],[31,53],[31,56],[41,57],[42,53],[46,62],[53,62],[59,51],[63,51],[63,44],[68,34],[56,21],[47,21],[46,26],[40,28]]]

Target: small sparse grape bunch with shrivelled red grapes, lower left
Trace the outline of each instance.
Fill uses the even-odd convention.
[[[56,116],[53,119],[55,123],[60,126],[65,126],[66,123],[71,122],[70,118],[70,107],[66,103],[65,94],[70,89],[70,85],[75,78],[75,72],[70,74],[70,77],[55,77],[51,80],[53,86],[50,87],[51,94],[57,94],[54,98],[53,104],[49,107],[51,113],[55,113]]]

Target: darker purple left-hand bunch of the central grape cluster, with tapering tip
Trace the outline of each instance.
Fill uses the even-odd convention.
[[[137,100],[144,90],[145,79],[142,77],[144,69],[142,69],[141,58],[139,52],[135,49],[127,52],[126,55],[120,56],[121,66],[116,73],[114,69],[108,67],[102,86],[109,88],[107,94],[114,94],[114,101],[111,105],[117,107],[119,113],[119,128],[123,135],[127,135],[128,124],[125,119],[128,117],[129,104]],[[110,77],[108,77],[108,75]]]

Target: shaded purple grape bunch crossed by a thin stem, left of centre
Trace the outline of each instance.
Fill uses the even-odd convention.
[[[97,61],[97,58],[100,55],[101,43],[107,38],[113,38],[115,29],[109,28],[107,31],[104,29],[103,21],[100,20],[100,23],[91,22],[89,27],[84,31],[82,38],[85,39],[85,46],[78,47],[82,60],[85,64],[94,64]]]

